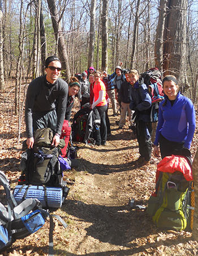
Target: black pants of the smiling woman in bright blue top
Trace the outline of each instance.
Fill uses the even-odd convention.
[[[175,149],[180,150],[183,148],[183,145],[184,145],[184,142],[174,142],[174,141],[167,140],[161,134],[160,134],[159,143],[160,143],[160,154],[162,159],[164,157],[171,156],[171,154]]]

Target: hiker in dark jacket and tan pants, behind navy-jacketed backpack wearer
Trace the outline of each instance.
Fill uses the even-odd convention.
[[[123,126],[126,124],[127,112],[128,112],[129,121],[131,121],[132,112],[134,112],[129,107],[131,103],[131,83],[130,83],[129,71],[125,73],[125,77],[126,77],[126,81],[121,83],[120,90],[119,90],[119,98],[121,100],[119,129],[122,129]]]

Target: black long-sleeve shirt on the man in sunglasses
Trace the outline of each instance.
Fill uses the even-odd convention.
[[[28,138],[33,137],[33,112],[44,115],[55,109],[55,100],[58,99],[57,131],[61,135],[67,106],[68,85],[58,78],[53,84],[46,80],[46,75],[37,77],[29,83],[25,102],[25,124]]]

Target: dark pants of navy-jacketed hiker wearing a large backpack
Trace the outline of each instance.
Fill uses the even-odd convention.
[[[152,123],[136,120],[136,130],[140,156],[144,157],[145,161],[149,161],[152,153]],[[149,134],[147,134],[147,132]]]

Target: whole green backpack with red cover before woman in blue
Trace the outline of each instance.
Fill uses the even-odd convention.
[[[147,213],[162,229],[184,230],[190,216],[191,167],[181,156],[165,157],[158,163],[156,191],[150,196]]]

